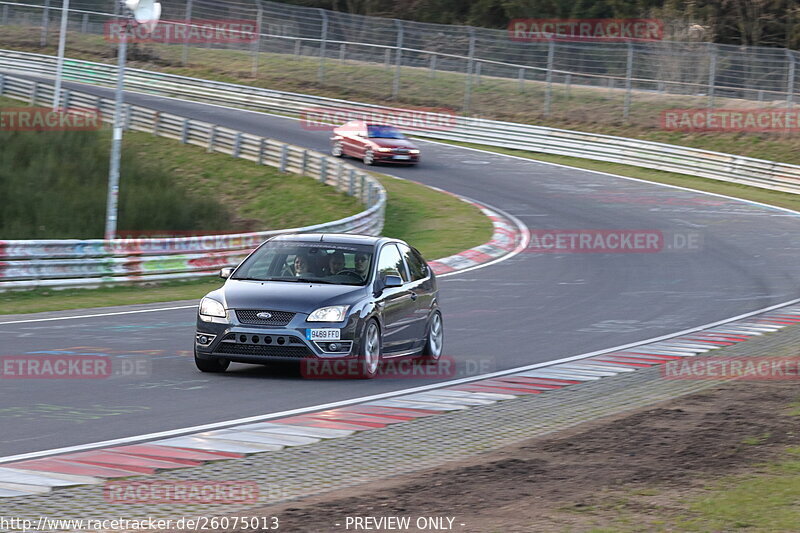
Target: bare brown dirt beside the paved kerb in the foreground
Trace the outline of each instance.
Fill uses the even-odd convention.
[[[419,517],[452,517],[450,529],[461,532],[587,531],[608,527],[614,502],[624,499],[637,520],[632,530],[648,530],[708,481],[797,445],[800,416],[789,415],[789,404],[798,395],[796,382],[724,385],[444,468],[248,514],[278,516],[279,530],[290,532],[398,531],[346,522],[389,516],[411,517],[405,531],[420,531]]]

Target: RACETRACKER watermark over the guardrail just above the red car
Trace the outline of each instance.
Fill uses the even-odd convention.
[[[330,131],[351,120],[390,124],[406,131],[449,131],[456,126],[456,114],[450,109],[310,107],[300,113],[300,125],[310,131]]]

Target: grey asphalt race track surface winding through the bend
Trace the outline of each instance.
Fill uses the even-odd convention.
[[[111,95],[106,89],[66,85]],[[306,131],[291,119],[134,94],[128,101],[328,149],[327,132]],[[445,353],[462,362],[463,372],[619,346],[800,297],[800,215],[445,145],[423,143],[422,148],[419,167],[379,170],[486,203],[531,230],[661,230],[667,235],[667,248],[660,253],[523,252],[497,265],[443,278]],[[124,194],[124,176],[121,186]],[[696,243],[694,249],[676,249],[685,238]],[[57,315],[82,314],[87,313]],[[201,374],[191,359],[194,315],[194,309],[182,308],[13,324],[8,322],[30,317],[0,318],[0,355],[91,353],[118,364],[128,359],[148,365],[147,376],[3,380],[0,456],[432,382],[311,381],[291,367],[246,365],[232,365],[224,375]]]

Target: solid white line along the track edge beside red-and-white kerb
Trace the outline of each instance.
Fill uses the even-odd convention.
[[[739,316],[735,316],[733,318],[726,318],[725,320],[720,320],[718,322],[712,322],[710,324],[704,324],[702,326],[697,326],[697,327],[694,327],[694,328],[686,329],[686,330],[683,330],[683,331],[679,331],[677,333],[670,333],[670,334],[667,334],[667,335],[662,335],[660,337],[654,337],[652,339],[647,339],[647,340],[643,340],[643,341],[637,341],[637,342],[633,342],[633,343],[630,343],[630,344],[624,344],[622,346],[615,346],[613,348],[607,348],[605,350],[598,350],[598,351],[595,351],[595,352],[589,352],[589,353],[584,353],[584,354],[580,354],[580,355],[573,355],[573,356],[570,356],[570,357],[564,357],[563,359],[558,359],[558,360],[555,360],[555,361],[547,361],[547,362],[544,362],[544,363],[535,363],[535,364],[532,364],[532,365],[526,365],[526,366],[521,366],[521,367],[517,367],[517,368],[511,368],[509,370],[501,370],[501,371],[498,371],[498,372],[492,372],[492,373],[483,374],[483,375],[480,375],[480,376],[472,376],[472,377],[468,377],[468,378],[454,379],[454,380],[451,380],[451,381],[445,381],[445,382],[441,382],[441,383],[434,383],[432,385],[423,385],[423,386],[420,386],[420,387],[412,387],[410,389],[404,389],[404,390],[400,390],[400,391],[385,392],[385,393],[381,393],[381,394],[373,394],[372,396],[362,396],[361,398],[352,398],[350,400],[341,400],[341,401],[338,401],[338,402],[331,402],[331,403],[326,403],[326,404],[321,404],[321,405],[314,405],[314,406],[311,406],[311,407],[301,407],[301,408],[298,408],[298,409],[290,409],[288,411],[281,411],[281,412],[278,412],[278,413],[267,413],[267,414],[263,414],[263,415],[250,416],[250,417],[246,417],[246,418],[238,418],[236,420],[228,420],[228,421],[224,421],[224,422],[215,422],[215,423],[211,423],[211,424],[204,424],[204,425],[200,425],[200,426],[193,426],[193,427],[180,428],[180,429],[171,429],[171,430],[167,430],[167,431],[160,431],[160,432],[157,432],[157,433],[148,433],[148,434],[145,434],[145,435],[134,435],[134,436],[130,436],[130,437],[123,437],[123,438],[119,438],[119,439],[106,440],[106,441],[102,441],[102,442],[93,442],[93,443],[89,443],[89,444],[79,444],[79,445],[76,445],[76,446],[68,446],[68,447],[65,447],[65,448],[54,448],[54,449],[51,449],[51,450],[42,450],[42,451],[39,451],[39,452],[23,453],[23,454],[19,454],[19,455],[9,455],[9,456],[6,456],[6,457],[0,457],[0,464],[10,463],[10,462],[14,462],[14,461],[23,461],[23,460],[27,460],[27,459],[36,459],[36,458],[41,458],[41,457],[48,457],[48,456],[51,456],[51,455],[59,455],[59,454],[64,454],[64,453],[73,453],[73,452],[79,452],[79,451],[85,451],[85,450],[92,450],[92,449],[96,449],[96,448],[108,448],[108,447],[111,447],[111,446],[120,446],[120,445],[124,445],[124,444],[132,444],[132,443],[135,443],[135,442],[142,442],[142,441],[149,441],[149,440],[156,440],[156,439],[164,439],[164,438],[168,438],[168,437],[176,437],[176,436],[180,436],[180,435],[188,435],[188,434],[192,434],[192,433],[199,433],[201,431],[209,431],[209,430],[212,430],[212,429],[223,429],[223,428],[232,427],[232,426],[239,426],[239,425],[242,425],[242,424],[252,424],[254,422],[262,422],[262,421],[271,420],[271,419],[274,419],[274,418],[283,418],[283,417],[287,417],[287,416],[310,413],[310,412],[313,412],[313,411],[323,411],[323,410],[327,410],[327,409],[334,409],[334,408],[337,408],[337,407],[344,407],[344,406],[347,406],[347,405],[370,402],[370,401],[375,401],[375,400],[383,400],[383,399],[387,399],[387,398],[394,398],[394,397],[397,397],[397,396],[405,396],[405,395],[412,394],[412,393],[415,393],[415,392],[423,392],[423,391],[440,389],[440,388],[444,388],[444,387],[452,387],[454,385],[460,385],[462,383],[470,383],[470,382],[473,382],[473,381],[481,381],[481,380],[484,380],[484,379],[490,379],[490,378],[494,378],[494,377],[507,376],[509,374],[516,374],[516,373],[524,372],[524,371],[527,371],[527,370],[534,370],[534,369],[537,369],[537,368],[553,366],[553,365],[557,365],[559,363],[566,363],[566,362],[569,362],[569,361],[577,361],[579,359],[586,359],[588,357],[594,357],[595,355],[601,355],[601,354],[605,354],[605,353],[611,353],[611,352],[616,352],[616,351],[620,351],[620,350],[625,350],[627,348],[632,348],[634,346],[641,346],[643,344],[650,344],[650,343],[658,342],[658,341],[661,341],[661,340],[664,340],[664,339],[671,339],[673,337],[679,337],[681,335],[688,335],[690,333],[694,333],[694,332],[701,331],[701,330],[704,330],[704,329],[713,328],[713,327],[719,326],[721,324],[727,324],[729,322],[734,322],[736,320],[741,320],[743,318],[751,317],[751,316],[758,315],[758,314],[761,314],[761,313],[766,313],[768,311],[772,311],[772,310],[775,310],[775,309],[780,309],[781,307],[794,305],[794,304],[797,304],[797,303],[800,303],[800,298],[797,298],[795,300],[791,300],[791,301],[788,301],[788,302],[784,302],[784,303],[781,303],[781,304],[773,305],[773,306],[770,306],[770,307],[765,307],[763,309],[759,309],[757,311],[752,311],[750,313],[745,313],[745,314],[742,314],[742,315],[739,315]]]

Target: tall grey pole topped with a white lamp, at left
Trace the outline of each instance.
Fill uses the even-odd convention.
[[[125,0],[126,7],[136,22],[146,31],[152,32],[161,17],[161,4],[155,0]],[[124,8],[123,8],[124,11]],[[125,58],[128,53],[128,27],[130,17],[126,17],[123,31],[120,34],[117,52],[117,90],[114,101],[114,128],[111,139],[111,161],[108,168],[108,200],[106,202],[105,239],[117,236],[117,212],[119,203],[119,161],[122,155],[122,101],[125,88]]]

